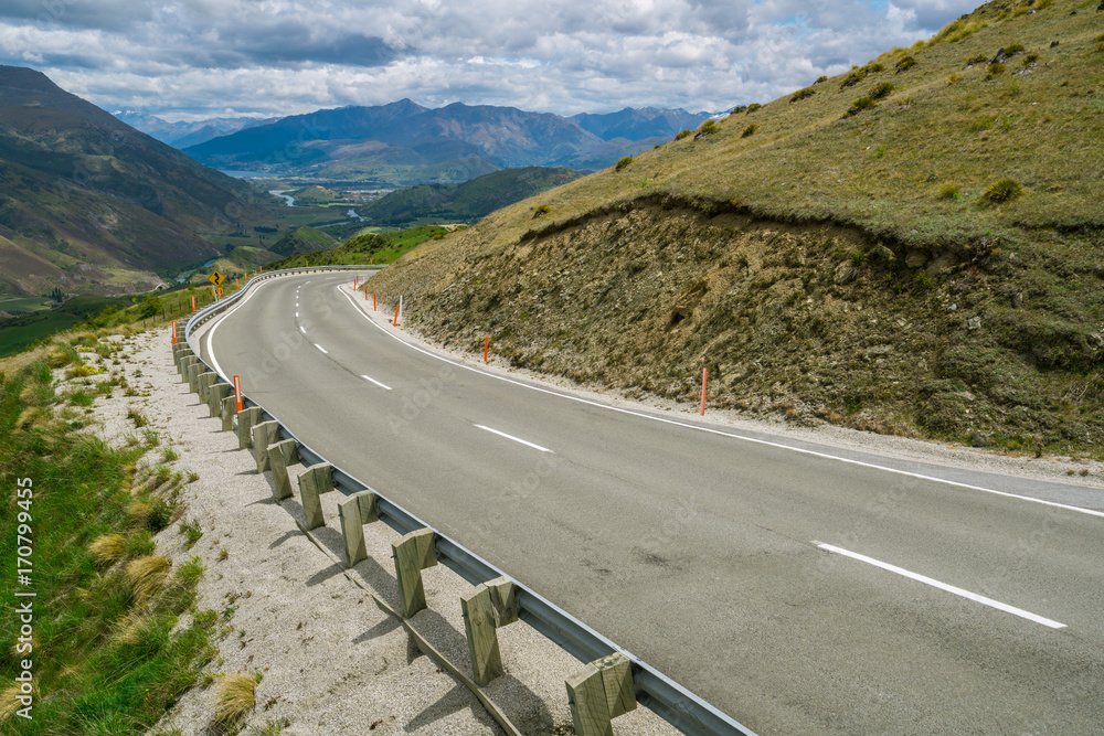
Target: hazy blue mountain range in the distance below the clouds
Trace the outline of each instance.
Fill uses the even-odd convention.
[[[295,115],[184,148],[223,169],[394,185],[459,183],[530,166],[598,169],[696,128],[710,115],[626,108],[565,118],[513,107],[410,99]]]

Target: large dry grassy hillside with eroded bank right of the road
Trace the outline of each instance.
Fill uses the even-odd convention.
[[[506,207],[373,279],[427,335],[795,422],[1104,444],[1104,14],[930,42]],[[534,217],[542,214],[534,222]]]

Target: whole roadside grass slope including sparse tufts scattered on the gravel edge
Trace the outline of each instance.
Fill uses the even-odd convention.
[[[0,459],[11,489],[0,562],[14,570],[28,554],[20,545],[32,554],[18,565],[29,579],[8,575],[0,590],[33,611],[30,637],[20,630],[28,619],[0,619],[6,734],[146,733],[213,657],[217,614],[194,605],[203,567],[158,555],[153,536],[180,519],[181,489],[195,473],[172,467],[174,454],[140,412],[130,413],[123,447],[81,431],[97,397],[138,393],[110,367],[126,343],[105,335],[65,335],[0,372]],[[24,660],[30,718],[15,713],[25,705],[15,700]]]

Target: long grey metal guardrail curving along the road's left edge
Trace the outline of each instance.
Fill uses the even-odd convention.
[[[203,361],[199,351],[197,351],[192,345],[191,333],[199,326],[232,307],[256,284],[269,278],[277,278],[290,274],[326,270],[378,270],[379,268],[382,268],[382,266],[318,266],[288,268],[272,271],[270,274],[255,276],[245,284],[244,288],[236,291],[234,295],[226,297],[221,301],[216,301],[213,305],[209,305],[201,311],[195,312],[195,314],[188,320],[188,324],[184,328],[184,340],[188,342],[192,352],[200,360],[200,362],[203,362],[209,370],[213,370],[205,361]],[[222,378],[227,382],[230,381],[230,376],[222,376]],[[333,468],[332,477],[335,490],[338,490],[346,495],[351,495],[365,490],[375,493],[380,521],[385,523],[391,529],[395,530],[400,534],[407,534],[415,530],[427,527],[433,530],[437,561],[468,583],[479,585],[480,583],[487,583],[488,580],[492,580],[498,577],[510,577],[479,555],[442,534],[436,529],[406,511],[397,503],[394,503],[363,481],[346,472],[341,468],[333,466],[333,463],[312,450],[306,442],[291,434],[291,431],[284,426],[284,424],[280,423],[274,414],[265,409],[265,407],[257,402],[243,395],[242,404],[243,406],[256,406],[261,408],[263,420],[274,420],[279,424],[279,438],[295,440],[298,446],[299,460],[301,465],[309,467],[319,462],[329,463]],[[561,649],[584,663],[593,662],[598,658],[606,657],[607,654],[612,654],[614,652],[623,653],[631,663],[633,684],[636,690],[637,702],[640,705],[647,706],[683,734],[688,734],[688,736],[755,736],[754,732],[750,728],[716,710],[682,685],[652,668],[650,664],[633,655],[622,647],[618,647],[616,643],[606,639],[601,633],[573,617],[571,614],[562,610],[554,604],[541,597],[532,589],[526,587],[517,580],[513,580],[512,577],[510,579],[513,582],[516,590],[518,617],[522,621],[529,623],[541,634],[555,642],[555,644]]]

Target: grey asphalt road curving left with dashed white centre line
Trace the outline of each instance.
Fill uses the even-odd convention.
[[[1104,733],[1104,514],[1061,505],[1104,509],[1104,490],[565,398],[396,340],[338,291],[350,280],[262,285],[201,333],[204,356],[746,726]]]

